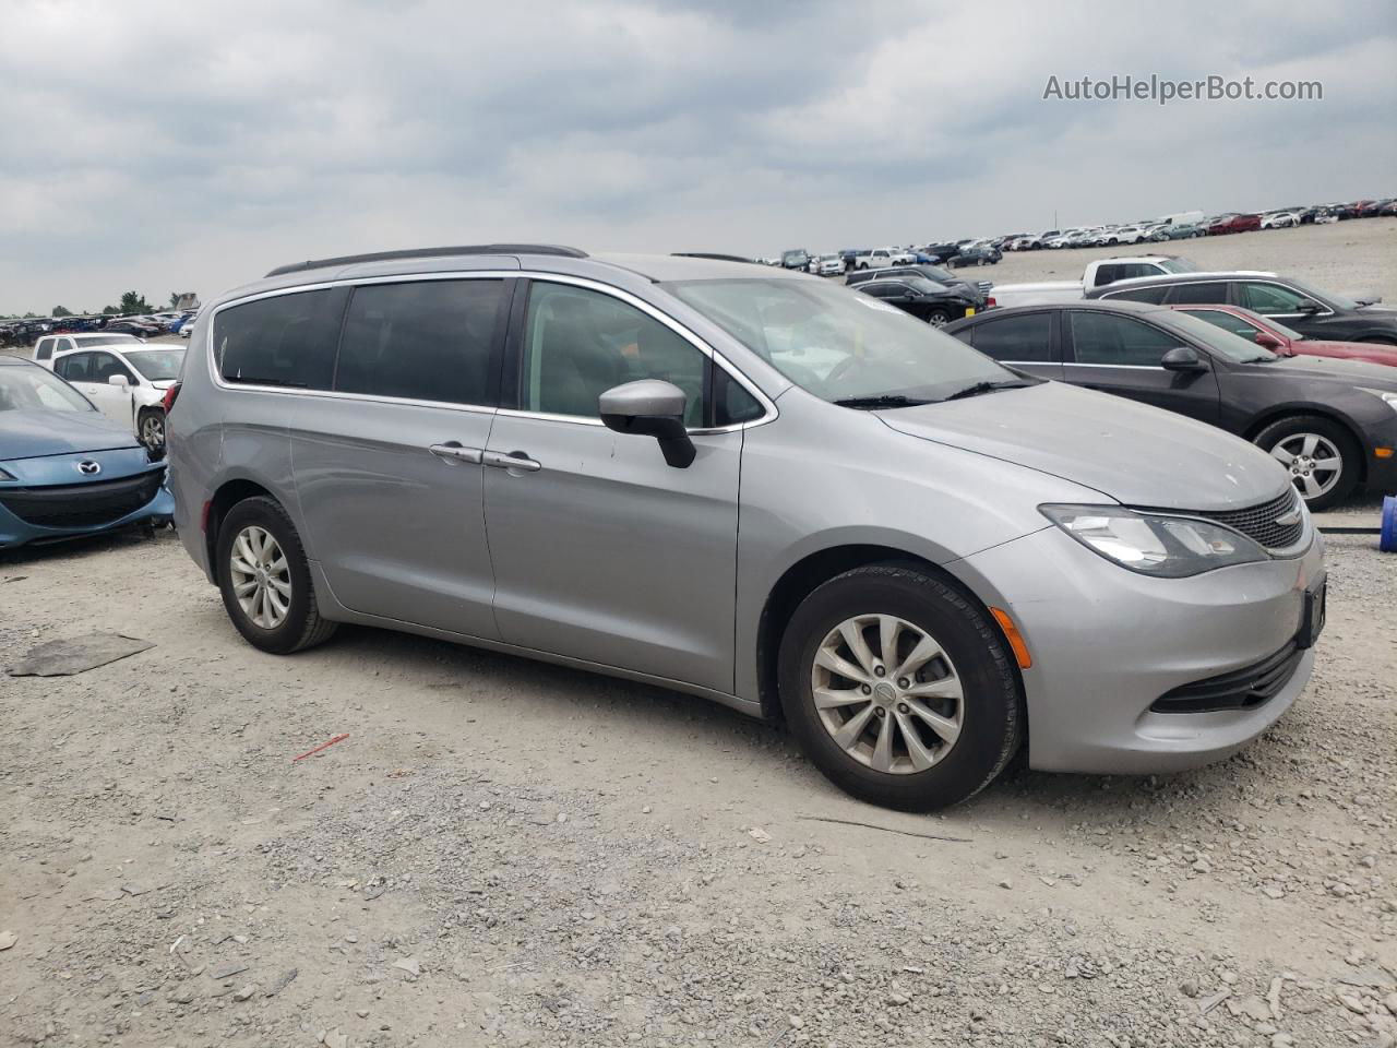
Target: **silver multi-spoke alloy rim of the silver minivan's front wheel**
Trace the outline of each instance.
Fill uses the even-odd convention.
[[[895,615],[855,615],[830,630],[810,689],[830,738],[875,771],[925,771],[961,734],[954,664],[935,637]]]

